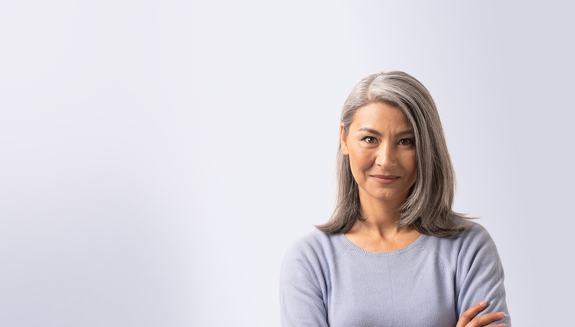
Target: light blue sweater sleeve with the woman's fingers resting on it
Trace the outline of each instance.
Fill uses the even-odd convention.
[[[505,316],[491,324],[511,327],[511,318],[505,302],[503,266],[493,239],[485,227],[473,223],[462,240],[457,262],[457,315],[483,300],[487,306],[478,315],[504,312]]]

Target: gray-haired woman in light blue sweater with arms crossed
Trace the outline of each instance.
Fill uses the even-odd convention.
[[[282,326],[510,327],[493,240],[453,211],[427,89],[401,71],[370,75],[341,121],[336,208],[287,250]]]

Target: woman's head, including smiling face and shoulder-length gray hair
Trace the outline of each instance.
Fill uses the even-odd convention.
[[[356,117],[363,121],[356,121]],[[435,102],[417,79],[402,71],[377,73],[362,79],[347,97],[340,120],[342,125],[336,166],[336,208],[327,223],[316,226],[318,229],[326,233],[342,233],[349,230],[357,219],[365,220],[359,212],[358,182],[365,184],[375,193],[379,192],[375,196],[407,196],[407,199],[403,198],[405,201],[402,201],[399,208],[400,228],[412,226],[420,233],[440,237],[450,237],[465,229],[464,225],[457,225],[451,220],[453,216],[466,217],[452,210],[455,178],[443,128]],[[388,139],[385,140],[389,149],[392,149],[391,145],[396,145],[394,152],[388,155],[388,161],[396,162],[393,167],[389,166],[393,163],[381,162],[385,160],[385,156],[381,155],[383,150],[380,149],[379,154],[374,154],[374,151],[370,150],[373,147],[365,144],[374,142],[372,139],[363,140],[363,143],[356,142],[362,136],[356,130],[359,125],[362,125],[360,129],[372,125],[386,130],[388,134],[393,132],[393,136],[386,136]],[[379,134],[383,134],[383,130],[379,131]],[[377,139],[373,132],[363,136]],[[408,134],[410,132],[411,134]],[[350,133],[353,139],[350,138]],[[411,139],[414,144],[408,144],[409,140],[402,140],[404,138]],[[361,155],[354,155],[353,158],[359,158],[356,161],[360,164],[352,162],[350,165],[350,149],[346,150],[346,146],[351,144],[347,145],[344,140],[347,140],[347,143],[354,140],[354,154]],[[401,143],[394,143],[395,141]],[[410,161],[410,158],[415,158],[415,162]],[[380,162],[376,164],[375,160]],[[402,164],[398,166],[399,162]],[[386,165],[389,169],[385,169],[388,167]],[[415,172],[409,172],[409,165],[414,165]],[[358,175],[357,181],[354,173]],[[373,175],[385,177],[388,174],[402,174],[397,181],[389,185],[399,181],[404,184],[390,186],[387,191],[385,187],[373,184],[378,182]],[[363,186],[362,190],[367,191]],[[406,187],[407,191],[404,190]],[[394,192],[397,194],[389,193],[389,189],[396,190]],[[385,192],[388,194],[385,195]]]

